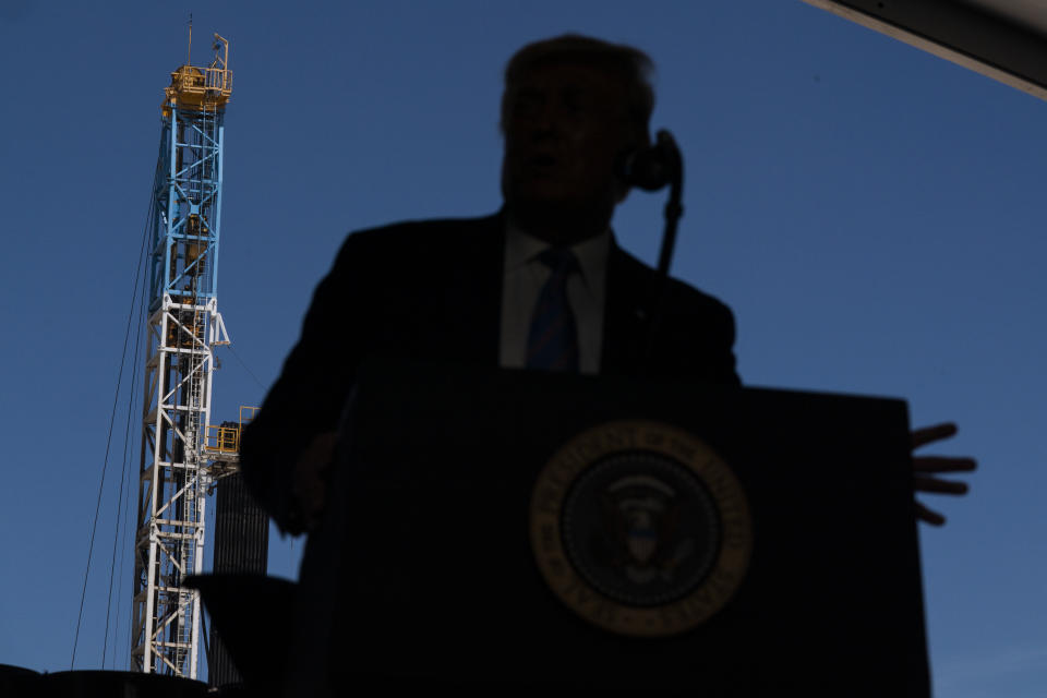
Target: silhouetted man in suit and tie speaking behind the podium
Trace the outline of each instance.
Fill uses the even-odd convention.
[[[577,35],[524,47],[505,71],[502,209],[347,238],[243,435],[245,478],[282,530],[320,520],[339,416],[368,357],[635,374],[658,278],[618,248],[611,219],[628,191],[617,163],[650,143],[651,70],[637,49]],[[727,306],[673,281],[647,375],[738,385],[733,342]],[[918,431],[913,446],[954,431]],[[930,473],[974,464],[914,466],[917,489],[961,494]]]

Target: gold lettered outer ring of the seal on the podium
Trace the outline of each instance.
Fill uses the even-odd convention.
[[[582,579],[564,551],[561,513],[570,485],[595,461],[623,452],[657,453],[684,465],[698,476],[719,509],[719,556],[705,580],[677,601],[651,607],[622,604]],[[561,601],[598,627],[634,637],[677,635],[707,621],[734,595],[753,551],[748,500],[730,466],[690,433],[645,420],[601,424],[561,447],[534,483],[530,533],[539,570]]]

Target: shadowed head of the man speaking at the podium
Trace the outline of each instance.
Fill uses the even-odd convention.
[[[615,164],[650,142],[651,71],[637,49],[577,35],[516,52],[502,98],[502,193],[515,225],[558,245],[606,229],[627,192]]]

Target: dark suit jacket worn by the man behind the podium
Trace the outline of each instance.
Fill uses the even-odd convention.
[[[497,366],[505,218],[424,220],[351,233],[321,281],[298,345],[241,440],[244,478],[281,528],[297,532],[290,472],[334,430],[368,357]],[[654,269],[612,243],[601,374],[639,373],[658,304]],[[665,294],[645,375],[737,385],[734,317],[681,281]]]

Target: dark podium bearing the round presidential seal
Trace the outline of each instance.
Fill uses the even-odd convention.
[[[893,399],[369,364],[291,681],[928,696],[908,450]]]

